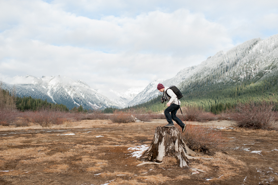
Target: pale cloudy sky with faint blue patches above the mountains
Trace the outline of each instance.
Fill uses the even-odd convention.
[[[277,33],[277,0],[0,0],[0,79],[124,92]]]

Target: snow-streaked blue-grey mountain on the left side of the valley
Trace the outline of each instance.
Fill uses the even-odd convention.
[[[82,107],[86,109],[103,109],[106,107],[120,107],[117,103],[99,94],[82,80],[74,81],[68,77],[37,78],[31,75],[13,78],[16,95],[31,96],[32,98],[47,99],[48,102],[64,104],[68,108]],[[4,89],[12,90],[13,85],[3,84]]]

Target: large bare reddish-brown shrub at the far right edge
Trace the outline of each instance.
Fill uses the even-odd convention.
[[[233,126],[277,130],[274,106],[267,102],[238,104],[232,114]]]

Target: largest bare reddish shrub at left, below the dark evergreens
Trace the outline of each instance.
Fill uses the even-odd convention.
[[[53,124],[63,124],[67,119],[60,111],[47,111],[41,110],[36,112],[30,112],[30,118],[32,122],[41,125],[42,127],[49,127]]]

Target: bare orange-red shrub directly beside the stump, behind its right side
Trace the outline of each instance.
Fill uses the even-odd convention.
[[[222,139],[219,131],[189,123],[186,124],[186,129],[182,136],[187,146],[198,152],[206,152],[209,149],[217,148]]]

